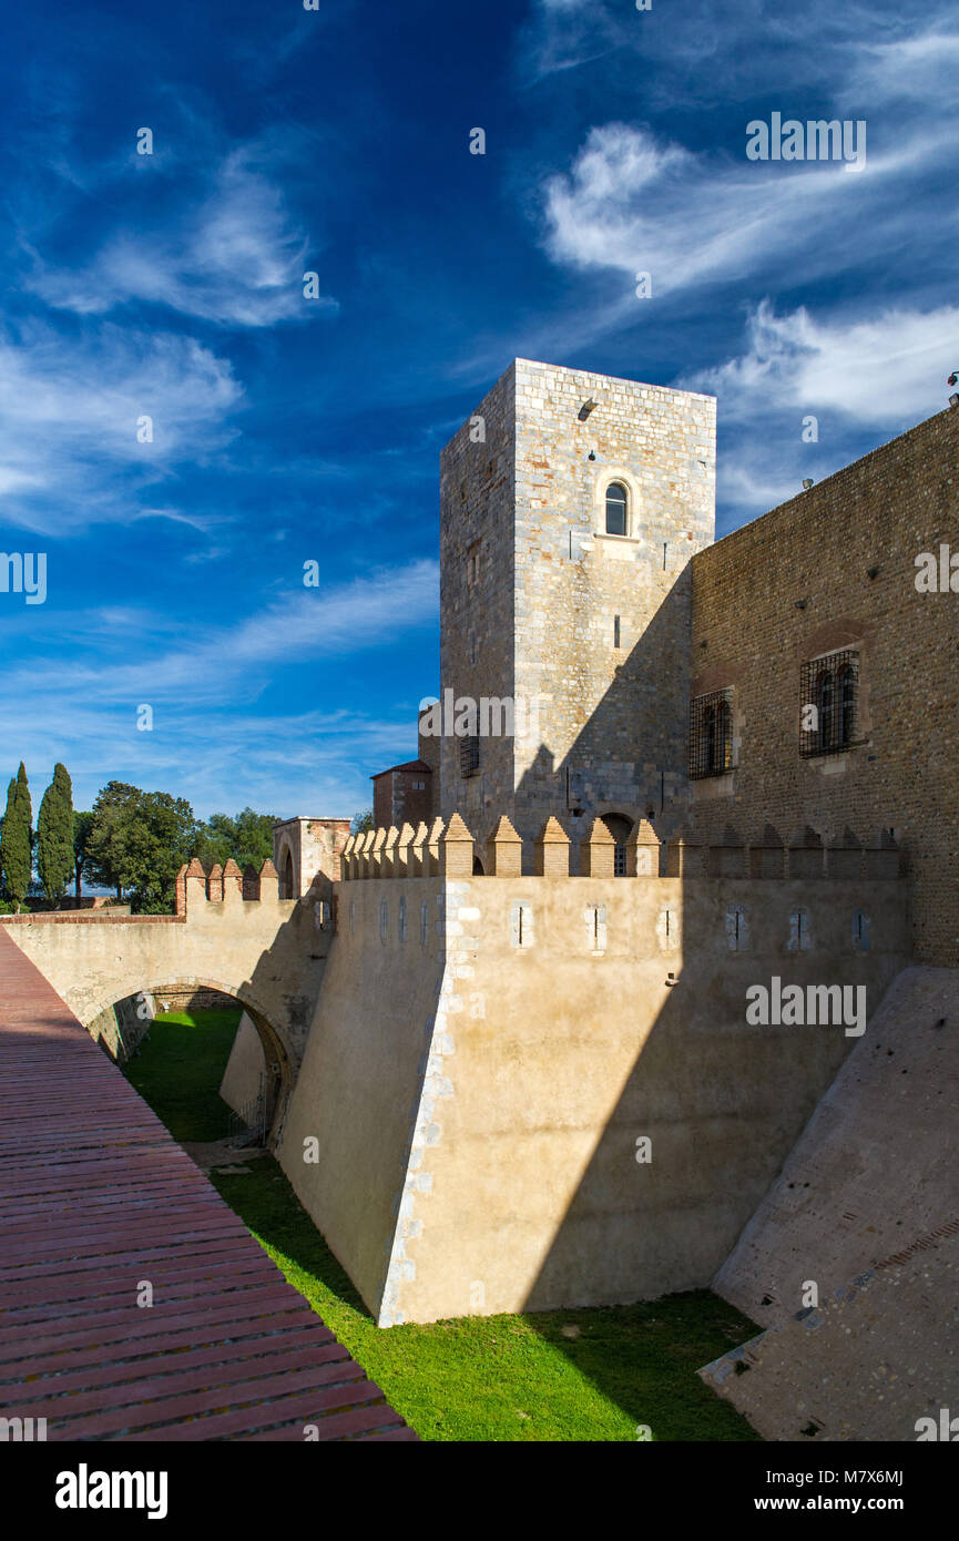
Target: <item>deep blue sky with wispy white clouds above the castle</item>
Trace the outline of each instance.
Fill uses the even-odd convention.
[[[720,533],[947,404],[953,6],[54,0],[5,32],[0,549],[46,552],[48,598],[0,593],[0,774],[34,801],[63,760],[77,806],[365,806],[438,687],[439,448],[513,356],[714,391]],[[748,160],[776,111],[865,120],[865,166]]]

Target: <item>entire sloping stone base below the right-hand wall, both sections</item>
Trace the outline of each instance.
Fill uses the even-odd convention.
[[[916,1439],[959,1405],[957,1023],[956,969],[894,980],[715,1276],[766,1331],[700,1375],[765,1439]]]

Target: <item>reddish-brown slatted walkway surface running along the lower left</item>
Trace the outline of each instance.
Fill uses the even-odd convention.
[[[0,1416],[48,1441],[415,1438],[3,926]]]

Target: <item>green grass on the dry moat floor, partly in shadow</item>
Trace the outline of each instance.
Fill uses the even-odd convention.
[[[196,1026],[185,1016],[162,1019],[128,1068],[177,1139],[222,1133],[217,1088],[233,1040],[222,1023],[230,1016],[197,1012]],[[177,1134],[171,1119],[190,1133]],[[759,1438],[695,1375],[757,1330],[718,1296],[381,1330],[273,1157],[211,1180],[422,1439],[635,1441],[640,1424],[660,1441]]]

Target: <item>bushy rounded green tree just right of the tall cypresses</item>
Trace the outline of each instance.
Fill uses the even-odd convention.
[[[93,806],[89,869],[117,897],[126,889],[134,912],[163,914],[173,908],[176,874],[196,854],[199,837],[185,798],[108,781]]]

